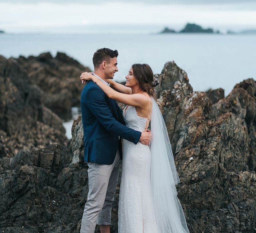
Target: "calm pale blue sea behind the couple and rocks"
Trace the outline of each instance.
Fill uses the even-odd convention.
[[[90,69],[93,53],[102,47],[119,52],[117,81],[125,80],[133,63],[148,63],[161,73],[167,61],[187,72],[194,91],[223,88],[227,96],[236,83],[256,79],[256,34],[0,35],[6,58],[60,51]]]

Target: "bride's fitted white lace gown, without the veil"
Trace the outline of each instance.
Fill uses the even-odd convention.
[[[126,108],[125,108],[126,109]],[[123,112],[126,126],[145,130],[147,118],[133,106]],[[151,153],[147,145],[123,140],[123,167],[119,194],[119,233],[158,233],[150,184]]]

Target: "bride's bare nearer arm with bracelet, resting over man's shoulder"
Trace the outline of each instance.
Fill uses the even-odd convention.
[[[92,80],[96,83],[105,94],[114,100],[117,100],[126,105],[135,106],[139,108],[143,108],[145,105],[148,105],[148,98],[142,94],[124,94],[113,90],[108,85],[104,84],[100,81],[96,76],[91,75],[89,73],[83,73],[80,77],[81,80]]]

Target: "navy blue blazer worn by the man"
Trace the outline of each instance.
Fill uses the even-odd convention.
[[[84,131],[84,161],[112,164],[117,148],[122,158],[122,137],[135,144],[141,132],[125,126],[122,111],[100,87],[89,81],[81,93],[81,114]]]

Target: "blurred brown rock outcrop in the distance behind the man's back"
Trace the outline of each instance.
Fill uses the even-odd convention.
[[[58,52],[56,57],[48,53],[38,57],[20,56],[16,59],[36,84],[43,104],[55,113],[69,112],[72,106],[80,106],[83,85],[78,82],[82,72],[90,72],[78,61]]]

